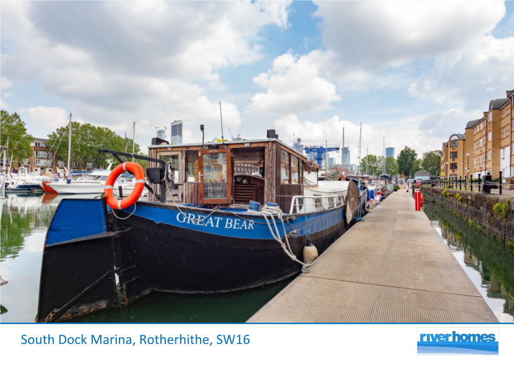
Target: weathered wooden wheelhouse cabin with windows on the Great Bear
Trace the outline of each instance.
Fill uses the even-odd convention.
[[[182,204],[248,208],[250,201],[274,202],[288,211],[292,197],[303,195],[307,158],[276,138],[151,145],[149,157],[171,163],[173,183],[177,185],[170,187],[166,202],[172,201],[171,193],[175,202]],[[149,166],[158,165],[150,162]],[[260,174],[241,174],[243,165],[250,165]],[[160,195],[160,185],[152,187]]]

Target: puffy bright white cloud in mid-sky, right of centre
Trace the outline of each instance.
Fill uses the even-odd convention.
[[[251,98],[251,113],[299,113],[331,108],[340,101],[334,84],[322,77],[313,53],[299,56],[291,52],[277,57],[268,70],[253,78],[266,88]]]

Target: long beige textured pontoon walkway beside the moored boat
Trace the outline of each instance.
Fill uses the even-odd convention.
[[[364,220],[248,322],[498,322],[405,190]]]

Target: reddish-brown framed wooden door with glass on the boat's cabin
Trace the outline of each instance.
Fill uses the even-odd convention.
[[[201,150],[198,154],[200,170],[200,199],[202,204],[231,203],[232,157],[230,150]]]

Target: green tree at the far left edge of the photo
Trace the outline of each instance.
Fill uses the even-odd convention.
[[[25,122],[22,121],[18,113],[10,114],[3,110],[0,112],[0,145],[6,146],[9,138],[9,149],[7,156],[14,161],[25,160],[32,154],[30,143],[34,140],[30,133],[27,133]]]

